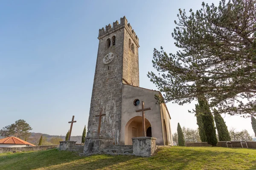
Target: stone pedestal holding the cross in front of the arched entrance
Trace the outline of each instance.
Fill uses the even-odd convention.
[[[156,150],[156,138],[132,138],[133,154],[135,156],[152,156]]]

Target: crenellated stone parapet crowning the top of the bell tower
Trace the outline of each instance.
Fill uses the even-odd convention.
[[[108,26],[105,27],[105,29],[102,27],[99,29],[99,37],[98,39],[101,39],[102,37],[105,37],[121,28],[125,27],[127,32],[130,34],[131,38],[134,40],[134,42],[139,47],[139,38],[137,37],[135,31],[132,29],[130,23],[127,22],[126,17],[120,18],[120,23],[116,20],[116,22],[113,22],[113,25],[108,24]]]

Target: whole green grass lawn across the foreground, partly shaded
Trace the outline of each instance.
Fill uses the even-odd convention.
[[[56,149],[0,154],[0,170],[256,170],[256,150],[224,147],[160,147],[149,158],[79,156]]]

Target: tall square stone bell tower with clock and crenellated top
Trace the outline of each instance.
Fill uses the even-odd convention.
[[[139,86],[139,39],[126,18],[99,29],[98,39],[85,153],[119,144],[122,85]]]

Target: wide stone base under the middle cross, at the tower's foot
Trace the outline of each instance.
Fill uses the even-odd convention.
[[[101,153],[108,145],[113,144],[113,142],[114,139],[112,138],[86,138],[84,142],[84,154]]]

